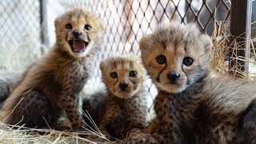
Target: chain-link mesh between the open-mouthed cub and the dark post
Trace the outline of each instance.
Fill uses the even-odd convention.
[[[104,49],[98,55],[99,59],[117,53],[139,55],[138,41],[142,35],[152,33],[165,22],[197,22],[202,31],[212,34],[215,20],[220,22],[230,18],[230,2],[222,0],[96,0],[86,2],[85,6],[107,25]],[[150,79],[147,80],[147,89],[150,107],[157,94]]]

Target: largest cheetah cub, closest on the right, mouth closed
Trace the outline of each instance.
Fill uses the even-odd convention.
[[[162,26],[139,42],[157,86],[156,118],[131,143],[228,143],[256,97],[254,82],[210,69],[211,39],[195,24]]]

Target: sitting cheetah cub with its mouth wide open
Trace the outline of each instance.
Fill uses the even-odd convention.
[[[54,24],[55,45],[26,70],[4,103],[2,120],[7,124],[54,128],[66,114],[73,130],[82,126],[78,93],[90,76],[105,26],[82,8],[62,14]]]

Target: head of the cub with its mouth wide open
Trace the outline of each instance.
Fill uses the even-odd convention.
[[[100,46],[105,26],[94,14],[74,9],[54,21],[57,44],[74,58],[85,57]]]

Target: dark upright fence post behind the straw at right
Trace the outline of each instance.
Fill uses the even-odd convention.
[[[251,18],[252,0],[231,0],[231,15],[230,15],[230,42],[234,47],[236,41],[237,50],[234,54],[240,58],[250,57],[250,45],[246,41],[250,39],[250,18]],[[230,54],[232,56],[232,54]],[[238,70],[248,72],[248,63],[238,59],[230,59],[230,67],[238,64]],[[245,72],[246,72],[245,71]]]

